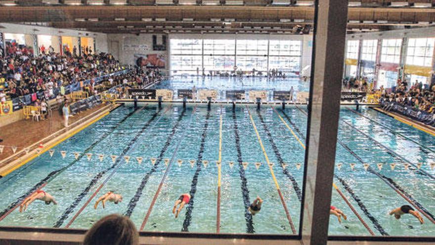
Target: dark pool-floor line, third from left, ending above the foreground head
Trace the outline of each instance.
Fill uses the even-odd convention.
[[[140,182],[139,187],[137,187],[136,193],[134,194],[133,197],[131,197],[129,205],[127,206],[127,210],[124,212],[125,216],[130,217],[131,214],[133,213],[133,210],[136,207],[137,202],[139,201],[139,198],[142,196],[143,189],[145,188],[146,184],[148,183],[149,177],[151,176],[152,173],[157,171],[157,168],[159,167],[159,164],[162,161],[166,150],[168,150],[168,147],[171,145],[171,142],[172,142],[173,137],[176,133],[176,130],[178,129],[180,121],[184,117],[185,113],[186,113],[186,109],[183,108],[183,110],[181,111],[180,115],[178,116],[178,118],[177,118],[177,120],[176,120],[176,122],[171,130],[171,134],[168,136],[165,144],[163,145],[162,149],[160,150],[160,154],[157,157],[155,164],[142,178],[142,181]]]

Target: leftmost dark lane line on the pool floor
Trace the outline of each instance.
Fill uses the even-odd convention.
[[[145,105],[146,106],[146,105]],[[142,109],[144,107],[141,107]],[[44,188],[45,185],[47,185],[48,183],[50,183],[54,178],[56,178],[57,176],[59,176],[63,171],[65,171],[66,169],[68,169],[69,167],[71,167],[74,163],[76,163],[77,161],[80,160],[80,158],[82,158],[86,152],[88,152],[89,150],[91,150],[96,144],[98,144],[101,140],[103,140],[104,138],[106,138],[111,132],[113,132],[116,128],[118,128],[121,123],[123,123],[128,117],[130,117],[136,110],[132,111],[131,113],[129,113],[124,119],[122,119],[120,122],[117,123],[117,125],[115,127],[113,127],[109,132],[105,133],[102,137],[100,137],[97,141],[95,141],[94,143],[92,143],[84,152],[83,154],[81,154],[78,159],[74,159],[71,163],[69,163],[68,165],[58,169],[58,170],[54,170],[52,172],[50,172],[44,179],[42,179],[39,183],[37,183],[32,189],[30,189],[25,195],[19,197],[15,202],[11,203],[8,208],[6,208],[5,210],[3,210],[0,213],[0,221],[2,221],[7,215],[9,215],[13,210],[15,210],[19,205],[21,205],[22,201],[24,199],[26,199],[27,197],[33,195],[36,191],[41,190],[42,188]]]

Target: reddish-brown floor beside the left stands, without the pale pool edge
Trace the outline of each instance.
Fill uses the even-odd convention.
[[[102,104],[70,117],[69,124],[71,125],[75,121],[91,114],[101,107],[103,107]],[[45,137],[63,128],[63,117],[58,111],[53,111],[52,116],[47,120],[39,122],[33,121],[32,119],[21,120],[0,127],[0,139],[3,140],[0,145],[4,146],[3,153],[0,154],[0,160],[13,154],[11,146],[18,147],[17,151],[19,151],[23,149],[23,147],[28,147],[32,144],[38,143]]]

